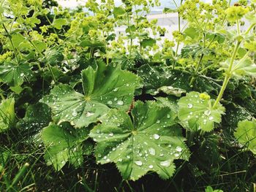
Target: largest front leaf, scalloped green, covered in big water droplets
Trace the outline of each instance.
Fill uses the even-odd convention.
[[[175,171],[173,160],[189,156],[170,109],[138,101],[131,115],[132,120],[126,112],[110,110],[102,124],[91,130],[97,162],[114,162],[125,180],[138,180],[150,171],[170,178]]]

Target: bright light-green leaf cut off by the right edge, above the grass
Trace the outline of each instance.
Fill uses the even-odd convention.
[[[238,128],[234,133],[241,145],[248,146],[248,150],[256,155],[256,120],[243,120],[238,122]]]

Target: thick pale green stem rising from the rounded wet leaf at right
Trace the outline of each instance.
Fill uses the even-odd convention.
[[[240,44],[241,44],[241,42],[237,42],[236,43],[236,47],[235,47],[235,49],[233,51],[233,54],[231,56],[230,66],[227,69],[227,72],[226,72],[226,75],[225,75],[225,79],[224,79],[224,82],[222,84],[222,88],[220,89],[219,95],[218,95],[216,101],[214,102],[213,109],[215,109],[217,107],[217,104],[219,104],[219,101],[222,99],[223,93],[224,93],[224,91],[225,91],[225,89],[227,87],[227,83],[230,80],[230,77],[232,76],[231,70],[232,70],[233,63],[234,63],[235,58],[236,58],[236,53],[238,52],[238,48],[239,48]]]

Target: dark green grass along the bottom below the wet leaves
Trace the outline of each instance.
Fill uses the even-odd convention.
[[[230,138],[225,136],[217,144],[221,154],[218,161],[209,161],[211,154],[207,150],[200,151],[203,139],[195,137],[190,161],[176,161],[177,170],[170,180],[161,180],[157,174],[148,173],[132,182],[122,180],[114,164],[95,164],[92,155],[85,156],[83,166],[78,169],[67,164],[56,172],[53,166],[46,165],[42,145],[35,145],[34,139],[24,139],[22,131],[11,130],[0,136],[0,159],[3,163],[0,191],[185,192],[204,191],[208,185],[228,192],[255,190],[255,158],[251,153],[240,151],[235,144],[230,146]],[[29,166],[20,173],[25,164]]]

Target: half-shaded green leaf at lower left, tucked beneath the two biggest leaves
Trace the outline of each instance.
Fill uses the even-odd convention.
[[[50,125],[42,130],[42,141],[46,147],[45,161],[60,170],[67,161],[74,166],[83,163],[82,142],[88,138],[88,128],[75,129],[69,123]]]

